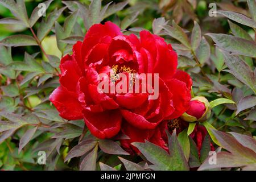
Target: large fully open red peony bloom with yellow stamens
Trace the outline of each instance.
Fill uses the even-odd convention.
[[[148,31],[139,35],[123,35],[112,22],[94,24],[84,41],[73,46],[72,56],[61,59],[60,86],[49,97],[61,117],[84,118],[98,138],[112,138],[122,131],[130,137],[121,141],[127,150],[131,142],[145,139],[166,147],[164,120],[180,117],[191,100],[191,77],[176,69],[177,55],[171,44]],[[111,77],[120,69],[158,73],[158,98],[151,100],[149,93],[98,92],[99,75]]]

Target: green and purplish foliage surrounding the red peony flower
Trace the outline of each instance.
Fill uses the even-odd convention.
[[[218,152],[214,168],[256,169],[255,1],[56,0],[46,1],[46,17],[38,17],[40,2],[0,1],[0,169],[210,169],[210,140]],[[217,16],[209,16],[210,3]],[[135,143],[142,155],[130,156],[118,138],[96,139],[83,121],[65,121],[50,104],[61,56],[92,24],[107,20],[124,34],[146,29],[163,36],[179,55],[179,69],[192,76],[193,94],[212,101],[211,117],[200,124],[210,136],[200,158],[188,137],[195,123],[169,136],[172,155]],[[42,150],[46,165],[37,163]]]

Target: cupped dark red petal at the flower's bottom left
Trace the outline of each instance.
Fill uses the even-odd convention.
[[[98,138],[112,138],[121,129],[122,115],[119,110],[106,110],[100,113],[84,110],[82,113],[86,126]]]

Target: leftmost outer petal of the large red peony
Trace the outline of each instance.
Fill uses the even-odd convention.
[[[76,94],[68,92],[63,86],[56,88],[49,96],[49,100],[55,105],[60,112],[60,116],[64,119],[75,120],[83,118],[83,108],[77,100]]]

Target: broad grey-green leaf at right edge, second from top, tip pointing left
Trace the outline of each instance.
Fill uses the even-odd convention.
[[[226,34],[206,34],[210,36],[218,47],[236,55],[256,57],[256,44],[246,39]]]

